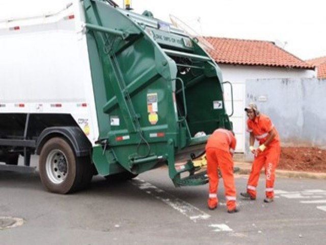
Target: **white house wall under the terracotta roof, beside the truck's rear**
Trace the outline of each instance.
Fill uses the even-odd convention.
[[[223,81],[229,81],[233,86],[234,113],[231,116],[234,133],[237,139],[236,152],[245,152],[246,115],[243,111],[246,103],[246,81],[253,79],[276,79],[276,78],[314,78],[316,72],[306,69],[291,69],[286,67],[249,66],[219,64]],[[224,97],[227,113],[230,115],[231,92],[228,85],[224,86]],[[254,88],[252,88],[254,90]]]

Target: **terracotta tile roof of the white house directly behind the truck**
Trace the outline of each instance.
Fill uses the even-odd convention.
[[[270,41],[204,37],[214,47],[208,51],[217,63],[314,69]]]

